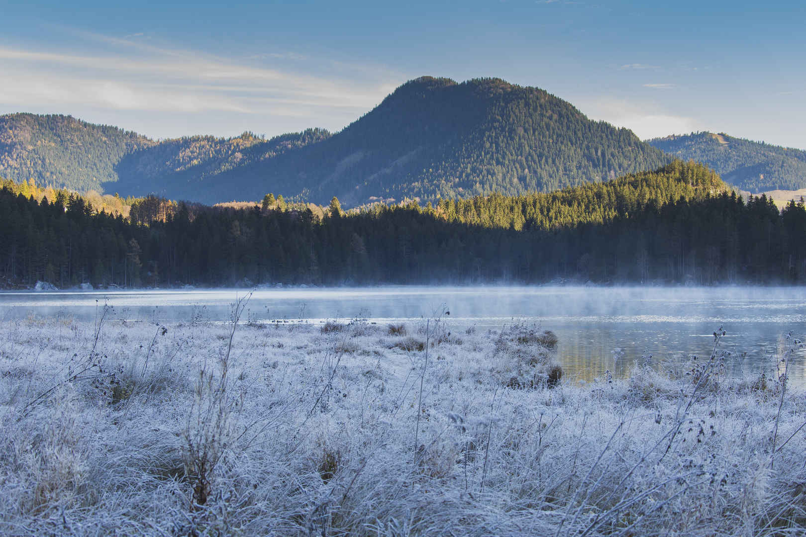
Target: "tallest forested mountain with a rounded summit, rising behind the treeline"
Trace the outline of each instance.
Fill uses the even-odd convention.
[[[321,143],[232,171],[224,184],[205,188],[222,192],[237,184],[247,199],[271,191],[318,203],[335,195],[347,205],[425,201],[550,191],[668,161],[632,131],[590,121],[542,89],[422,77]]]

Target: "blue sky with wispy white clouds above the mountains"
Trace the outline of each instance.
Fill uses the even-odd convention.
[[[6,2],[0,114],[154,138],[339,130],[403,82],[498,76],[642,138],[806,148],[806,2]]]

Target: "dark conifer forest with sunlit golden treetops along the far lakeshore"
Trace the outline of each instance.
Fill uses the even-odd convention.
[[[177,204],[148,225],[0,189],[0,281],[803,283],[806,209],[747,202],[695,163],[549,194],[310,209]]]

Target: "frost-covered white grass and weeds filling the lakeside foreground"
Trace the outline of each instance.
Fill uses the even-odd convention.
[[[707,358],[580,386],[554,343],[5,321],[0,534],[803,535],[804,394]]]

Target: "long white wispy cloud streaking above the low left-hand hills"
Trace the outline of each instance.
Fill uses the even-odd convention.
[[[0,48],[0,71],[6,80],[14,81],[0,85],[0,113],[69,112],[86,107],[144,113],[218,112],[251,114],[263,120],[310,118],[298,128],[339,128],[405,81],[405,76],[386,68],[338,64],[294,52],[232,58],[131,39],[137,34],[81,36],[108,46],[93,47],[104,52],[89,54]],[[338,74],[307,74],[318,71],[313,64],[337,66],[324,72]]]

